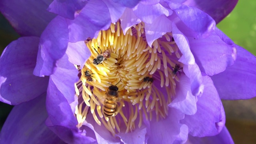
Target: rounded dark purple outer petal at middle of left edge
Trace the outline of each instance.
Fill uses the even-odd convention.
[[[0,101],[20,104],[46,92],[48,78],[33,75],[38,37],[22,37],[11,42],[0,57]]]

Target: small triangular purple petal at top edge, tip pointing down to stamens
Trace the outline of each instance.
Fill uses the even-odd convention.
[[[122,16],[126,7],[122,6],[121,4],[114,3],[112,0],[102,1],[107,5],[110,13],[111,22],[114,24]]]

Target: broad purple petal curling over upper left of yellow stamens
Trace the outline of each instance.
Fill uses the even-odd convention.
[[[100,30],[110,27],[111,18],[108,7],[102,0],[92,0],[84,6],[74,20],[67,19],[69,42],[96,38]]]

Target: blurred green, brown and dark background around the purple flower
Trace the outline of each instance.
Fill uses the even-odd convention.
[[[256,55],[256,0],[240,0],[235,9],[217,27],[236,44]],[[19,35],[0,15],[0,53]],[[256,98],[251,100],[223,100],[226,126],[236,144],[256,142]],[[12,106],[0,102],[0,129]]]

